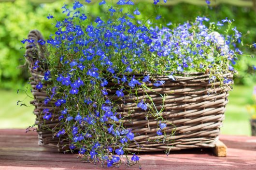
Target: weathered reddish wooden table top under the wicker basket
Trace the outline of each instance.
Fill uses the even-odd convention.
[[[188,149],[140,154],[142,170],[256,170],[256,136],[221,135],[228,146],[227,157],[215,157],[210,149]],[[0,170],[75,170],[102,168],[100,164],[83,163],[75,154],[58,153],[37,145],[36,132],[24,129],[0,130]],[[119,170],[139,170],[138,166],[121,166]]]

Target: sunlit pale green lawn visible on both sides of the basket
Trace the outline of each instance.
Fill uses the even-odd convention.
[[[222,134],[251,134],[246,105],[252,97],[252,91],[253,86],[234,86],[228,97],[229,103],[224,126],[221,129]],[[17,94],[16,91],[0,90],[0,128],[27,128],[34,123],[33,106],[16,105],[17,100],[23,100],[25,97],[22,91]],[[24,103],[29,105],[30,99],[27,98]]]

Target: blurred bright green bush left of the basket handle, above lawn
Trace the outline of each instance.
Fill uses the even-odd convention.
[[[38,29],[44,35],[52,32],[46,18],[49,13],[60,11],[59,2],[36,6],[28,0],[0,3],[0,87],[20,88],[29,74],[25,63],[21,40],[32,29]]]

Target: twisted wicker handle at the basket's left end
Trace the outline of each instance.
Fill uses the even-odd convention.
[[[30,42],[29,40],[33,40]],[[42,68],[42,61],[45,60],[45,45],[41,45],[38,41],[43,40],[42,34],[38,30],[32,30],[28,34],[28,41],[26,44],[26,59],[29,63],[29,70],[32,71],[32,68],[35,66],[35,62],[39,61],[38,68]],[[34,69],[34,70],[38,70]]]

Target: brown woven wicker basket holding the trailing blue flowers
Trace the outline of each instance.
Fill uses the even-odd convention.
[[[42,39],[42,35],[33,30],[29,33],[28,39],[34,39],[37,42]],[[35,106],[34,114],[36,115],[35,124],[38,125],[38,138],[39,145],[61,148],[67,141],[65,138],[53,137],[51,131],[47,128],[55,128],[58,125],[58,108],[52,108],[51,104],[44,105],[43,99],[47,97],[46,91],[36,89],[36,85],[43,78],[43,70],[46,66],[39,66],[37,69],[32,69],[34,63],[40,59],[44,60],[43,47],[39,48],[35,43],[27,44],[26,55],[29,62],[29,70],[32,74],[30,77],[30,83],[32,86],[32,94],[34,100],[31,104]],[[42,68],[44,67],[44,68]],[[143,74],[138,74],[140,77]],[[227,73],[225,76],[232,78],[231,73]],[[145,113],[142,109],[139,109],[136,104],[131,101],[135,99],[134,96],[125,96],[123,100],[116,100],[116,103],[120,106],[119,113],[122,116],[127,115],[128,112],[131,119],[124,120],[124,125],[127,128],[131,128],[135,133],[136,143],[129,146],[130,151],[161,151],[166,149],[179,150],[195,147],[214,147],[215,142],[218,140],[220,134],[220,127],[224,120],[225,106],[228,103],[228,90],[229,85],[220,87],[220,82],[215,82],[214,93],[212,84],[209,84],[209,74],[205,73],[184,73],[182,76],[174,76],[175,81],[171,80],[168,76],[157,76],[160,80],[165,80],[165,84],[159,87],[148,84],[155,92],[148,91],[156,105],[156,108],[164,108],[161,113],[162,116],[168,120],[168,122],[174,124],[174,126],[167,126],[165,132],[167,133],[166,140],[170,140],[169,144],[150,142],[149,140],[156,140],[164,138],[164,135],[156,135],[157,121],[154,118],[149,117],[145,120]],[[156,78],[157,78],[156,77]],[[111,92],[109,97],[113,99],[117,86],[114,83],[109,83],[107,89]],[[157,93],[156,93],[157,92]],[[160,94],[166,94],[166,98],[162,101]],[[150,102],[144,91],[138,91],[139,99],[145,99]],[[137,98],[136,98],[137,99]],[[51,109],[54,112],[54,118],[52,121],[43,120],[42,110]],[[173,136],[170,134],[176,131]],[[136,133],[140,135],[136,135]]]

